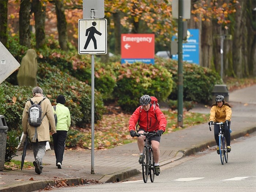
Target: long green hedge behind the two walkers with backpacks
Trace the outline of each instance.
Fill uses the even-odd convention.
[[[58,95],[63,94],[66,97],[65,105],[70,110],[72,125],[85,127],[91,123],[91,87],[89,85],[47,63],[39,64],[37,82],[52,104],[56,103]],[[18,129],[21,125],[25,103],[33,96],[33,87],[19,87],[5,81],[0,84],[0,89],[4,91],[1,105],[5,109],[4,116],[7,125]],[[104,110],[101,94],[96,91],[95,122],[102,118]]]

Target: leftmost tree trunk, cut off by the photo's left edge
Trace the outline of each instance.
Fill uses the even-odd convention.
[[[8,0],[0,1],[0,41],[6,47],[7,45],[7,4]]]

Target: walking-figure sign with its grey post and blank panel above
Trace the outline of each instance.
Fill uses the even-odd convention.
[[[83,19],[79,19],[78,24],[78,50],[79,54],[91,54],[91,174],[94,174],[94,54],[107,54],[106,19],[95,18],[104,18],[104,0],[83,0]]]

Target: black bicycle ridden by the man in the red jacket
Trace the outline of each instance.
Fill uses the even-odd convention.
[[[139,137],[141,135],[146,136],[144,140],[144,148],[142,153],[142,176],[144,183],[147,182],[148,174],[150,174],[150,181],[154,182],[155,179],[155,161],[153,158],[153,150],[151,146],[151,142],[148,141],[149,138],[155,135],[155,132],[144,132],[142,134],[137,133],[136,136]]]

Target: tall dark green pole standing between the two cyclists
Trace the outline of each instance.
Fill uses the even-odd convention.
[[[182,41],[183,41],[183,0],[178,1],[178,126],[183,127],[183,72],[182,72]]]

